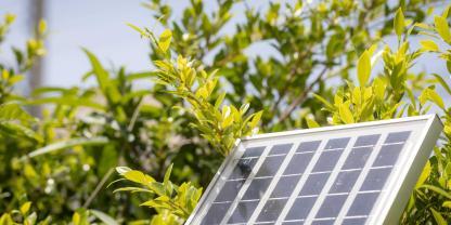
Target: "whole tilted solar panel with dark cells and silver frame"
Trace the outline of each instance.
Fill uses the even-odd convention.
[[[243,138],[186,224],[396,224],[441,130],[427,115]]]

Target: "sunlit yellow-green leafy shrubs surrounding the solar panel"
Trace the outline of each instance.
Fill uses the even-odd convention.
[[[400,224],[451,223],[451,30],[442,1],[191,0],[182,15],[143,3],[164,31],[130,26],[149,71],[111,69],[89,50],[91,88],[17,83],[44,56],[46,23],[2,45],[0,224],[182,224],[241,136],[439,114],[444,131]],[[234,9],[244,8],[235,15]],[[240,22],[232,22],[241,16]],[[4,15],[0,43],[15,16]],[[229,28],[228,28],[229,27]],[[226,29],[233,27],[233,31]],[[385,40],[394,37],[396,44]],[[414,48],[413,39],[420,39]],[[262,44],[270,52],[248,54]],[[443,74],[412,69],[436,56]],[[151,82],[147,89],[137,83]],[[41,118],[26,108],[43,105]]]

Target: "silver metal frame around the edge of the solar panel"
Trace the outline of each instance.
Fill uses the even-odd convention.
[[[191,225],[191,224],[201,223],[203,216],[196,216],[196,215],[198,214],[205,215],[208,209],[205,209],[204,206],[206,203],[211,202],[214,200],[212,198],[216,197],[217,195],[217,193],[216,194],[212,193],[214,188],[217,186],[218,183],[224,182],[221,175],[233,169],[232,164],[235,163],[237,161],[236,159],[239,159],[244,154],[245,146],[248,145],[249,141],[252,141],[252,143],[253,142],[265,143],[265,142],[270,142],[270,141],[274,142],[273,141],[274,138],[279,141],[281,138],[282,140],[289,138],[293,135],[301,135],[301,134],[305,134],[305,135],[317,134],[318,135],[318,133],[322,133],[322,132],[333,132],[337,134],[337,132],[340,132],[343,130],[349,130],[349,129],[356,130],[359,128],[379,127],[379,125],[390,125],[390,127],[396,128],[397,124],[399,123],[409,123],[409,122],[418,123],[418,124],[413,124],[413,127],[416,127],[416,130],[413,130],[413,132],[415,132],[415,141],[412,142],[413,145],[404,146],[404,148],[407,147],[410,148],[409,153],[399,156],[400,158],[398,159],[397,167],[395,167],[395,170],[388,177],[387,183],[385,184],[385,187],[384,187],[384,191],[378,197],[378,200],[374,204],[374,208],[370,214],[370,217],[366,221],[366,224],[371,224],[371,225],[396,224],[398,223],[401,216],[401,213],[409,200],[410,194],[417,181],[417,177],[421,175],[424,164],[426,163],[427,159],[430,156],[430,151],[433,147],[435,146],[436,141],[439,137],[443,129],[443,125],[440,119],[436,115],[425,115],[425,116],[405,117],[405,118],[399,118],[399,119],[361,122],[361,123],[345,124],[345,125],[334,125],[334,127],[285,131],[285,132],[268,133],[268,134],[258,134],[258,135],[254,135],[249,137],[243,137],[242,140],[237,140],[233,151],[231,151],[231,154],[228,157],[226,157],[226,160],[219,168],[218,172],[216,173],[215,177],[208,185],[207,189],[205,190],[199,202],[197,203],[196,208],[194,209],[193,213],[188,219],[185,224]],[[299,140],[302,140],[302,138],[304,138],[302,136],[299,137]],[[265,151],[267,154],[269,151],[269,148],[267,147]],[[403,149],[401,153],[405,153],[405,150]],[[262,161],[261,158],[259,161],[261,163]],[[257,164],[259,162],[257,162]],[[412,166],[416,166],[416,167],[412,167]],[[256,166],[253,172],[256,172],[258,169],[259,168]],[[389,190],[389,191],[385,191],[385,190]],[[218,189],[216,191],[218,191]],[[230,212],[229,212],[229,215],[230,215]],[[335,224],[339,224],[339,222],[337,221]]]

